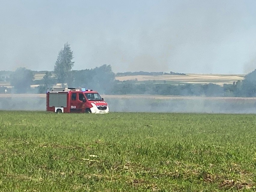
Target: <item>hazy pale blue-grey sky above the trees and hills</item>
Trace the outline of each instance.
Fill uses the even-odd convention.
[[[255,0],[0,0],[0,70],[244,74],[256,68]]]

